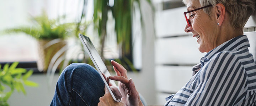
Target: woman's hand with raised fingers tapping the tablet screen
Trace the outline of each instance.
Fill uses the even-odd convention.
[[[116,61],[111,60],[117,76],[110,76],[111,80],[119,81],[118,86],[122,99],[126,100],[127,106],[143,106],[139,93],[137,92],[132,79],[128,79],[126,69]]]

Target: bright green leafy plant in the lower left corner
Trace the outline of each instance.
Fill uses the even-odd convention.
[[[10,67],[5,64],[1,69],[0,64],[0,106],[9,106],[7,100],[16,89],[26,95],[23,85],[37,87],[38,84],[27,79],[32,75],[33,70],[27,71],[23,68],[16,68],[18,62],[13,63]],[[4,85],[10,87],[10,91],[6,92]]]

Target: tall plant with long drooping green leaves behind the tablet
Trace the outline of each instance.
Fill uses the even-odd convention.
[[[150,0],[146,0],[151,7]],[[140,0],[94,0],[94,15],[93,22],[95,28],[98,30],[98,35],[101,42],[100,55],[103,57],[103,48],[107,36],[107,20],[108,13],[112,13],[114,18],[114,30],[116,31],[117,43],[121,48],[119,63],[126,68],[135,71],[136,69],[132,63],[132,16],[133,11],[136,10],[135,5],[138,4],[138,9],[141,12]],[[142,15],[139,14],[142,20]],[[143,27],[143,21],[141,21]],[[110,62],[108,62],[110,64]]]

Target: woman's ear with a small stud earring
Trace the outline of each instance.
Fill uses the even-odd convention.
[[[216,4],[216,10],[215,10],[215,18],[217,20],[217,23],[219,23],[219,26],[222,25],[224,17],[225,17],[225,6],[221,3]],[[216,24],[217,24],[216,23]]]

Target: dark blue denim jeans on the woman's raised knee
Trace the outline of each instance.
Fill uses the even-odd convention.
[[[94,67],[73,63],[61,73],[50,106],[97,106],[104,87]]]

